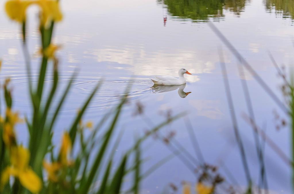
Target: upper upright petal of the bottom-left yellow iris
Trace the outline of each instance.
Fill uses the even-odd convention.
[[[11,164],[19,171],[25,170],[29,165],[30,153],[29,150],[22,147],[13,147],[11,149]]]

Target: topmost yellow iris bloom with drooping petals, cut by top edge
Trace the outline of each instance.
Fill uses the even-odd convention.
[[[5,11],[9,18],[17,22],[26,21],[26,9],[32,5],[41,8],[41,25],[49,27],[51,21],[61,21],[62,13],[56,0],[9,0],[5,4]]]

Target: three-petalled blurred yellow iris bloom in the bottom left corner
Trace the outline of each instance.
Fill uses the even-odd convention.
[[[29,167],[29,150],[19,146],[11,149],[11,166],[1,173],[0,188],[3,189],[10,176],[19,178],[22,186],[32,193],[38,193],[42,188],[41,179]]]

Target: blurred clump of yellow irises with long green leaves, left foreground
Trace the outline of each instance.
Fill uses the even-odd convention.
[[[40,8],[39,30],[42,60],[36,85],[32,83],[29,51],[26,45],[26,10],[31,5],[37,5]],[[54,145],[52,137],[56,119],[76,75],[72,76],[55,107],[52,101],[59,87],[59,64],[55,52],[60,46],[53,44],[51,40],[54,23],[62,20],[59,3],[55,0],[9,0],[5,4],[5,11],[10,19],[21,23],[32,114],[25,118],[29,141],[27,145],[22,145],[17,141],[15,130],[16,124],[21,122],[21,119],[19,119],[19,114],[13,111],[13,98],[9,88],[9,79],[7,79],[3,85],[6,112],[0,117],[0,192],[120,193],[123,178],[134,173],[129,191],[138,193],[139,182],[143,177],[140,174],[141,143],[181,115],[169,118],[151,129],[148,135],[139,138],[134,146],[119,159],[118,165],[114,166],[112,161],[118,141],[113,147],[110,147],[109,144],[113,142],[114,130],[122,107],[126,103],[127,94],[121,98],[121,102],[113,112],[106,114],[93,128],[92,122],[83,124],[82,117],[99,88],[97,85],[63,133],[61,145]],[[48,64],[52,64],[53,81],[49,93],[45,96],[44,83],[46,74],[49,72]],[[49,113],[49,110],[52,112]],[[97,135],[97,131],[105,123],[108,125],[105,129],[103,128],[104,132]],[[86,128],[91,128],[87,135],[85,134]],[[73,152],[73,147],[78,149]],[[109,149],[112,152],[106,157]],[[57,154],[54,154],[55,150]],[[135,160],[131,161],[130,156],[132,155],[135,156]],[[102,181],[97,186],[98,178],[102,178]]]

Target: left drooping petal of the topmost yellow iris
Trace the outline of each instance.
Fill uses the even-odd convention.
[[[22,23],[26,20],[26,8],[32,3],[33,1],[9,0],[5,4],[6,14],[10,19]]]

